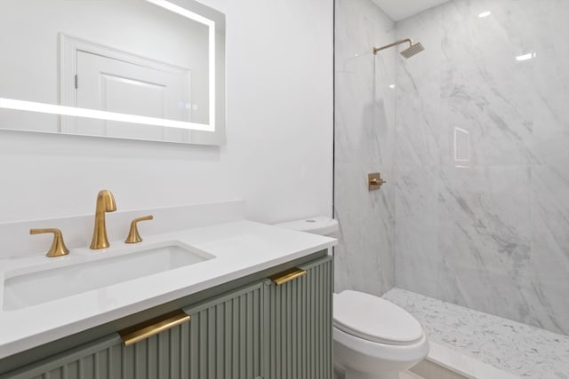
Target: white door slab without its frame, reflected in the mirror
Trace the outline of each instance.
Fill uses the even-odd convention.
[[[140,60],[140,59],[139,59]],[[150,66],[150,65],[148,65]],[[124,114],[191,121],[189,72],[155,67],[85,51],[76,53],[76,106]],[[144,136],[140,131],[144,130]],[[161,127],[79,119],[78,134],[163,139]]]

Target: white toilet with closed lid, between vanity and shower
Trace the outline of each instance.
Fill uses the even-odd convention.
[[[311,217],[276,226],[338,238],[338,222]],[[398,379],[429,353],[419,321],[378,296],[333,295],[334,371],[345,379]]]

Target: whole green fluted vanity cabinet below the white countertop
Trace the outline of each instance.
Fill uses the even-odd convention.
[[[0,379],[332,379],[333,258],[297,266],[306,274],[279,286],[273,270],[183,300],[188,322],[129,346],[110,332],[70,349],[50,343],[62,352],[28,353],[34,363]]]

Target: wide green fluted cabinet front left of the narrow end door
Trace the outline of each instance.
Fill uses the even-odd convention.
[[[257,283],[183,311],[188,323],[124,346],[118,334],[0,379],[255,379],[261,375],[263,291]]]

